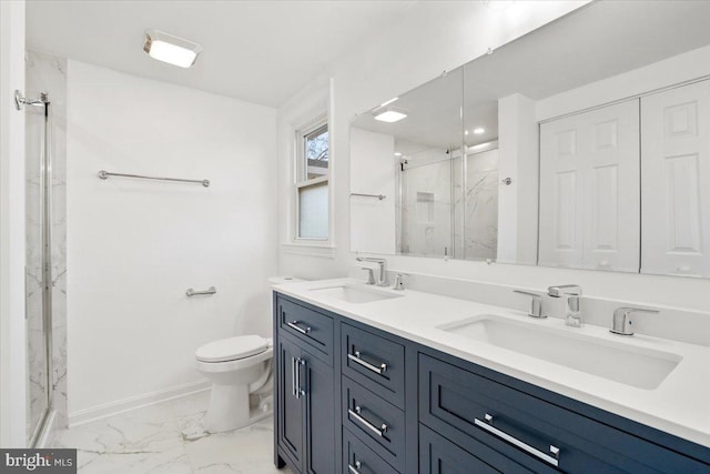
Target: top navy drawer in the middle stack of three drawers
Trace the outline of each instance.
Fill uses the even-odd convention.
[[[347,324],[342,329],[343,374],[404,406],[404,346]]]

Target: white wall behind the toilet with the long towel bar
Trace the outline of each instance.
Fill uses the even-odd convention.
[[[274,109],[69,61],[70,422],[197,386],[201,344],[271,334],[275,135]]]

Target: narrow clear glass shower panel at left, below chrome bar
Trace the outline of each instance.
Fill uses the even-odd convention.
[[[51,410],[51,161],[49,104],[27,105],[27,433],[33,445]]]

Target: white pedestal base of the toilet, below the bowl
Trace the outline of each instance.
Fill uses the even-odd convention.
[[[273,413],[273,407],[250,407],[248,385],[212,384],[210,407],[204,416],[204,427],[210,433],[222,433],[248,426]]]

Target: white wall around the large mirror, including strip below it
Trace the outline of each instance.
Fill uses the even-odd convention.
[[[452,70],[481,56],[488,47],[498,47],[584,3],[586,2],[516,2],[507,10],[487,10],[483,2],[420,2],[413,6],[390,29],[371,36],[357,51],[339,60],[332,70],[337,131],[332,151],[337,167],[333,178],[337,186],[337,253],[332,262],[306,256],[297,261],[280,260],[280,271],[298,274],[307,268],[310,275],[317,278],[343,275],[351,271],[362,275],[362,272],[352,266],[354,255],[346,251],[349,236],[348,128],[356,113],[410,90],[444,70]],[[549,110],[554,105],[557,107],[550,103]],[[550,113],[545,111],[546,115]],[[538,118],[541,114],[538,108]],[[385,256],[390,268],[403,272],[456,276],[531,289],[579,283],[585,288],[586,294],[598,297],[710,311],[710,299],[706,296],[707,280]],[[665,291],[659,292],[659,288]]]

